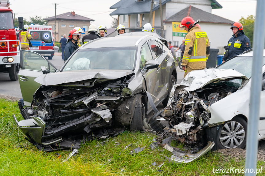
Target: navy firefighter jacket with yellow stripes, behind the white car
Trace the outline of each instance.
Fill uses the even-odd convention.
[[[245,36],[243,31],[240,31],[237,33],[237,36],[233,35],[228,40],[228,57],[223,57],[223,61],[226,61],[227,59],[230,59],[238,54],[243,53],[244,51],[247,51],[251,49],[250,46],[250,40],[247,36]],[[227,52],[225,51],[225,52]]]

